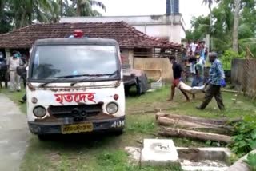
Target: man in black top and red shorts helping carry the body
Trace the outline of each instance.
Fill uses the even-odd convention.
[[[175,88],[178,86],[178,83],[180,82],[181,78],[182,78],[182,66],[176,62],[176,58],[175,57],[170,57],[170,62],[173,65],[173,74],[174,74],[174,80],[173,83],[171,85],[171,89],[170,89],[170,98],[167,101],[173,101],[174,100],[174,93],[175,93]],[[186,101],[190,101],[190,98],[188,97],[188,95],[182,90],[179,89],[182,94],[186,97]]]

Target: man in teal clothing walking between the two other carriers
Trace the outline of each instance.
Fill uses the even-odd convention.
[[[202,86],[203,85],[203,66],[202,66],[202,58],[198,55],[197,57],[197,63],[194,66],[195,74],[192,82],[192,87],[194,86]],[[193,94],[193,99],[195,95]]]

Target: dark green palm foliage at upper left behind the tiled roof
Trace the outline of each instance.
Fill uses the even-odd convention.
[[[58,22],[60,16],[98,16],[92,6],[106,7],[93,0],[0,0],[0,34],[33,22]]]

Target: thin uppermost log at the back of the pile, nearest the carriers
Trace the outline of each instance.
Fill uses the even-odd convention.
[[[228,119],[206,119],[202,117],[190,117],[186,115],[178,115],[178,114],[169,114],[169,113],[156,113],[156,119],[158,120],[158,117],[168,117],[170,119],[178,119],[182,121],[190,121],[194,123],[204,123],[204,124],[212,124],[212,125],[226,125],[228,123],[236,123],[239,121],[242,121],[242,119],[234,119],[234,120],[228,120]]]

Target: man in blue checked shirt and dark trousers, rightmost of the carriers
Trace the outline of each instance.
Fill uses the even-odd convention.
[[[198,106],[197,109],[205,109],[213,97],[217,101],[218,108],[220,110],[225,109],[225,106],[222,101],[222,93],[221,93],[221,87],[226,85],[224,80],[225,74],[224,74],[224,70],[222,69],[222,62],[220,62],[217,59],[217,57],[218,57],[217,53],[209,54],[209,60],[211,62],[210,78],[207,82],[207,84],[209,84],[209,88],[206,90],[205,99],[202,102],[202,105]]]

